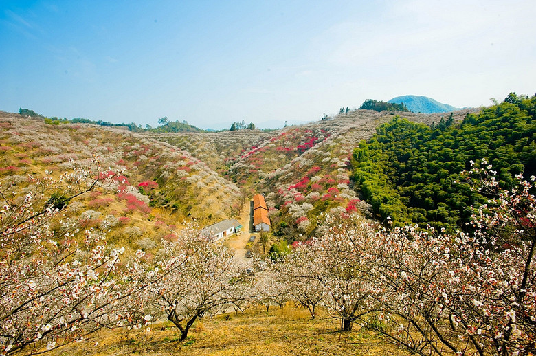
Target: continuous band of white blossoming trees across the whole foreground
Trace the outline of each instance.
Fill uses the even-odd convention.
[[[95,167],[0,188],[0,353],[41,353],[101,328],[167,318],[185,340],[205,315],[289,300],[342,331],[367,327],[418,355],[536,352],[535,177],[504,190],[491,166],[465,173],[487,197],[467,232],[382,227],[328,214],[317,238],[254,267],[190,227],[154,256],[109,248],[106,224],[63,216],[107,184]],[[95,178],[97,177],[97,178]]]

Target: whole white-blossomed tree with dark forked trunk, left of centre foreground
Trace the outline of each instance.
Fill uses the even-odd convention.
[[[252,273],[234,260],[234,252],[185,228],[176,243],[170,243],[159,256],[164,276],[150,287],[157,308],[181,332],[186,340],[197,318],[240,304],[246,298],[243,285],[252,282]],[[180,268],[166,267],[170,256],[182,256]]]

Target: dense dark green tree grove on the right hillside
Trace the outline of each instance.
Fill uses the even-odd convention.
[[[454,230],[465,227],[470,205],[484,201],[459,183],[471,162],[491,164],[500,185],[536,175],[536,96],[511,93],[501,104],[427,126],[394,118],[353,153],[353,179],[384,221]]]

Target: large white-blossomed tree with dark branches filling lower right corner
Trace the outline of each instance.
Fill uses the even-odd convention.
[[[484,165],[486,163],[484,162]],[[372,245],[384,293],[372,323],[420,355],[531,355],[536,340],[535,199],[523,181],[502,190],[487,170],[467,173],[489,197],[469,233],[383,230]],[[531,177],[534,180],[534,177]]]

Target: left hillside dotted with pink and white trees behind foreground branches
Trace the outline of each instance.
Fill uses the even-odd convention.
[[[239,190],[186,151],[138,133],[89,124],[45,124],[0,115],[0,181],[25,184],[28,175],[59,175],[97,156],[111,186],[68,205],[80,227],[111,225],[109,243],[152,249],[190,217],[201,224],[227,219]],[[166,237],[167,236],[167,237]]]

